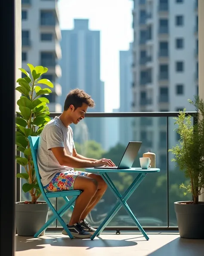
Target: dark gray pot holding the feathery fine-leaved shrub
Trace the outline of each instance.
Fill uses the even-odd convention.
[[[179,234],[182,238],[204,239],[204,202],[181,204],[174,202]]]

